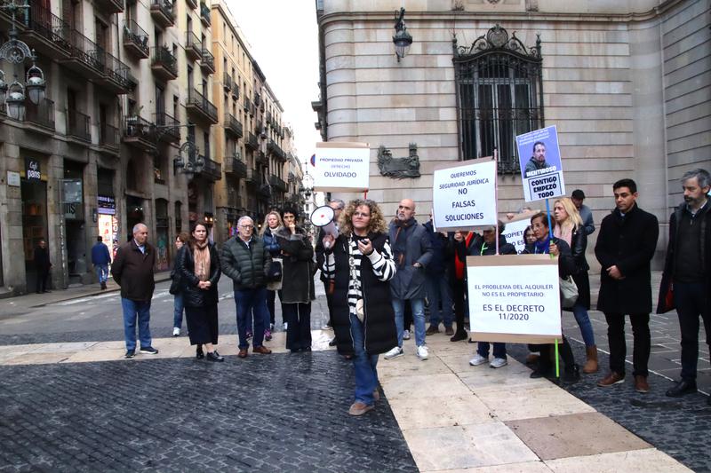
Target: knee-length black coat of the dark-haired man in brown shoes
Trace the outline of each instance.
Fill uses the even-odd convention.
[[[595,256],[603,266],[597,310],[608,313],[651,312],[651,258],[657,248],[659,222],[635,204],[623,218],[617,209],[603,218]],[[624,279],[614,280],[607,268],[617,265]]]

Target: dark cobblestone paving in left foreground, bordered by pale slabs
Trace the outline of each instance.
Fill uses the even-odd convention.
[[[0,367],[0,471],[416,471],[336,353]],[[41,408],[39,408],[41,406]]]

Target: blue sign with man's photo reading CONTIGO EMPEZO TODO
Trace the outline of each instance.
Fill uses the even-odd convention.
[[[527,202],[565,195],[555,125],[516,136],[523,197]]]

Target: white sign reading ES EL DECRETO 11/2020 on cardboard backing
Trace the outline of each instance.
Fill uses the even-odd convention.
[[[560,340],[557,259],[549,255],[467,256],[467,284],[472,340]]]

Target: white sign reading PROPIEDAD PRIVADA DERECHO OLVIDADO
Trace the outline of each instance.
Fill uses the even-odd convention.
[[[367,143],[316,143],[314,191],[367,191],[370,168],[371,148]]]

